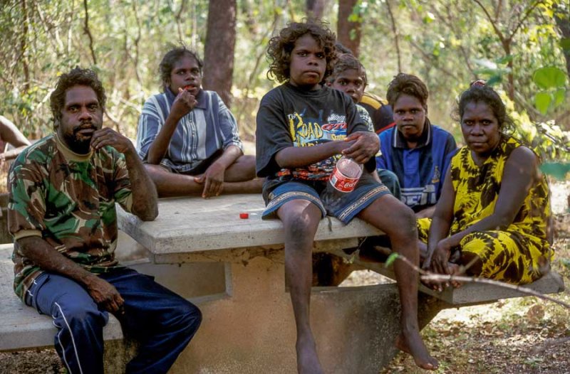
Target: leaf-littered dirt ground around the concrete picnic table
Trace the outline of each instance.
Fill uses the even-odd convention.
[[[570,287],[570,181],[554,183],[556,260],[553,269]],[[353,272],[346,285],[383,282],[378,274]],[[566,290],[556,298],[570,303]],[[440,312],[422,331],[440,361],[435,373],[570,374],[570,310],[534,296]],[[0,353],[0,374],[65,373],[53,349]],[[380,374],[427,373],[399,353]],[[237,373],[239,374],[239,373]],[[355,373],[358,374],[358,373]]]

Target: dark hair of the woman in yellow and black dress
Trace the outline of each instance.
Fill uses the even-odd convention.
[[[503,134],[511,134],[514,131],[514,122],[507,114],[507,107],[505,107],[501,97],[495,90],[481,81],[472,83],[471,87],[462,92],[452,112],[452,118],[461,122],[463,114],[465,114],[465,107],[472,102],[483,102],[489,105],[494,117],[497,118],[499,130]]]

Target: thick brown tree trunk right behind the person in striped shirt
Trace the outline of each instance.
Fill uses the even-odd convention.
[[[205,90],[216,91],[229,107],[236,44],[236,0],[210,0],[204,48]]]

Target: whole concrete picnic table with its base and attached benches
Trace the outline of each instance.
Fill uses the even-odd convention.
[[[209,201],[165,199],[153,222],[120,212],[121,230],[138,242],[122,237],[121,262],[155,275],[157,282],[191,299],[204,314],[197,336],[171,373],[296,372],[281,222],[261,220],[263,209],[261,196],[239,195]],[[249,218],[240,219],[239,213],[249,213]],[[316,233],[315,251],[348,258],[344,249],[356,247],[361,237],[379,234],[358,219],[343,225],[325,218]],[[10,248],[0,250],[0,351],[52,346],[51,319],[21,304],[11,289],[9,255]],[[390,276],[390,269],[381,263],[360,257],[351,260],[356,267]],[[544,279],[547,287],[541,292],[560,291],[563,286],[557,280]],[[471,286],[479,291],[472,293]],[[420,326],[447,307],[520,296],[481,284],[442,294],[422,291]],[[393,341],[399,333],[399,312],[395,284],[314,288],[311,323],[326,372],[378,373],[396,353]],[[111,318],[105,339],[120,338],[118,321]],[[114,347],[106,352],[112,355],[107,362],[115,365],[108,373],[119,373],[127,357],[124,350]]]

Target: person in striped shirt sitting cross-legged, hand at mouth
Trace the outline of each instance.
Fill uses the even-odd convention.
[[[184,47],[162,58],[164,92],[150,97],[137,150],[159,197],[259,193],[254,156],[244,156],[237,123],[216,92],[202,90],[202,60]]]

